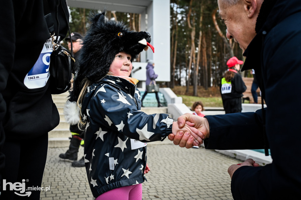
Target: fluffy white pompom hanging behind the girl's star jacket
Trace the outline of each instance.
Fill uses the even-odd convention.
[[[80,118],[80,108],[76,106],[76,102],[68,101],[65,103],[63,114],[65,116],[66,122],[68,122],[70,125],[76,125],[78,124]]]

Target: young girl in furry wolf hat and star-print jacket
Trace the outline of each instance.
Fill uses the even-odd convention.
[[[122,23],[104,20],[103,15],[95,15],[84,39],[70,100],[78,97],[81,107],[85,167],[93,196],[141,200],[141,183],[150,170],[146,143],[162,141],[180,129],[167,114],[147,115],[140,110],[138,80],[131,78],[132,60],[149,45],[150,35],[131,32]],[[146,41],[140,44],[141,40]],[[81,80],[82,87],[77,88]],[[188,125],[182,130],[198,133]]]

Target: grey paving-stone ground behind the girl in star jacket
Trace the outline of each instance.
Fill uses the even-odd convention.
[[[92,200],[85,168],[71,167],[71,162],[60,161],[58,155],[67,148],[48,148],[47,162],[40,200]],[[83,155],[80,147],[78,156]],[[142,183],[143,200],[228,200],[233,199],[227,169],[241,161],[214,150],[181,148],[168,139],[148,143],[147,164],[151,171]]]

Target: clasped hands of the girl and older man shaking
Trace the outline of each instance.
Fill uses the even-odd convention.
[[[204,117],[185,113],[172,124],[172,134],[168,139],[180,147],[191,148],[200,146],[203,140],[209,137],[209,123]]]

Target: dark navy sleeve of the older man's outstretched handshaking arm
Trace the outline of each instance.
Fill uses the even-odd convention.
[[[225,115],[206,115],[209,138],[204,140],[206,149],[262,149],[262,110]]]

